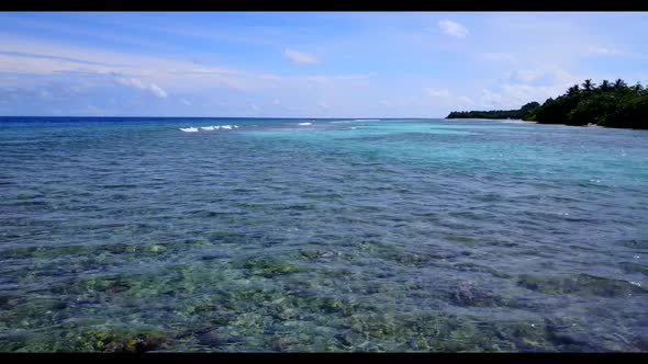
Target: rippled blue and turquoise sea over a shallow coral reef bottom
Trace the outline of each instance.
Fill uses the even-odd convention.
[[[648,351],[647,132],[305,122],[1,118],[0,351]]]

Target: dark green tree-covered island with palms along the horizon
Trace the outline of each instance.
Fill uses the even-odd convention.
[[[648,89],[639,82],[585,80],[541,105],[529,102],[519,110],[451,112],[446,118],[515,118],[539,124],[606,126],[648,129]]]

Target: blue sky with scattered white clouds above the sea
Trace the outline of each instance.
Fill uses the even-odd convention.
[[[0,115],[445,117],[648,83],[640,12],[2,12]]]

